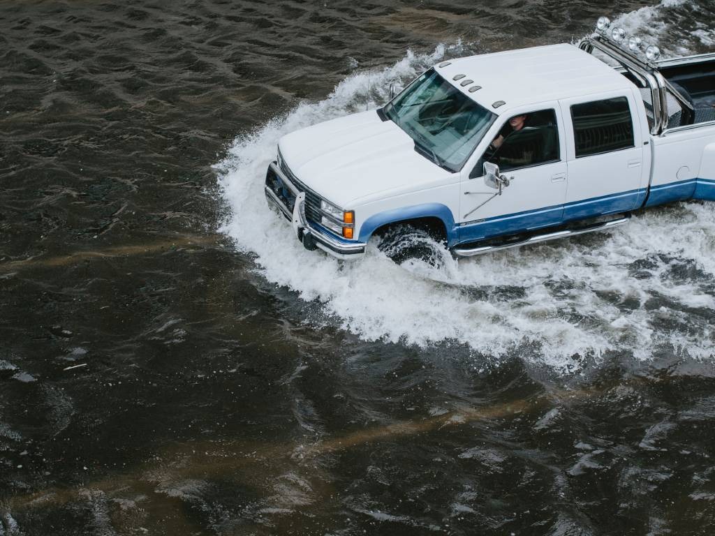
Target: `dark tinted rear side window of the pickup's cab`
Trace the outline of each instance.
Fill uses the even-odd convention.
[[[576,158],[634,147],[628,99],[584,102],[571,106]]]

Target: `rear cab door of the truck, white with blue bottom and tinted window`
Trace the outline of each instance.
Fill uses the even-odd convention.
[[[568,151],[565,220],[627,212],[643,202],[649,162],[637,109],[630,91],[561,101]]]

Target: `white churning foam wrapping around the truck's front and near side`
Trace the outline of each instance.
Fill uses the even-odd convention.
[[[416,76],[448,50],[408,53],[383,71],[353,74],[327,99],[300,104],[237,139],[218,166],[231,212],[222,231],[255,254],[270,282],[320,302],[325,317],[310,322],[337,322],[364,339],[447,340],[497,357],[516,349],[525,359],[568,369],[578,356],[608,350],[638,359],[663,347],[710,356],[707,315],[692,309],[715,307],[713,204],[656,209],[611,234],[459,262],[446,257],[438,268],[399,267],[374,247],[362,261],[340,264],[303,249],[287,222],[267,209],[265,170],[282,134],[365,109],[370,86],[384,95],[391,81]],[[681,269],[700,272],[681,277]]]

